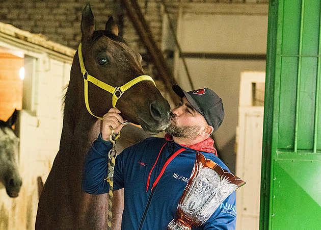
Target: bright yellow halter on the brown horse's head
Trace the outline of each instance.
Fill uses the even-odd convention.
[[[107,92],[110,92],[111,94],[113,94],[113,107],[116,108],[116,103],[117,103],[117,100],[123,95],[123,93],[129,89],[130,87],[132,87],[133,85],[139,83],[139,82],[142,82],[142,81],[151,81],[154,83],[154,85],[156,86],[154,80],[148,76],[148,75],[141,75],[141,76],[138,76],[137,78],[127,82],[125,85],[123,86],[119,86],[119,87],[113,87],[111,85],[108,85],[96,78],[94,78],[94,76],[90,75],[86,68],[85,68],[85,65],[84,65],[84,60],[83,60],[83,54],[82,54],[82,43],[79,44],[79,47],[78,47],[78,58],[79,58],[79,63],[80,63],[80,66],[81,66],[81,70],[82,70],[82,73],[83,73],[83,76],[84,76],[84,85],[85,85],[85,104],[86,104],[86,108],[88,110],[88,112],[93,115],[94,117],[97,117],[95,116],[90,108],[89,108],[89,101],[88,101],[88,82],[91,82],[92,84],[98,86],[99,88],[107,91]],[[118,94],[118,95],[116,95]],[[102,117],[97,117],[98,119],[102,120]]]

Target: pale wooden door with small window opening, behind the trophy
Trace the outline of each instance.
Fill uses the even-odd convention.
[[[257,230],[263,136],[265,72],[242,72],[236,136],[236,175],[246,185],[236,190],[236,229]]]

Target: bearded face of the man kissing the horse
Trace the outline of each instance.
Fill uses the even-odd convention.
[[[195,138],[201,127],[207,124],[205,118],[194,109],[186,97],[181,99],[170,116],[171,124],[165,131],[173,137]]]

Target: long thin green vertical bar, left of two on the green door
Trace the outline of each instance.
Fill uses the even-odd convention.
[[[298,124],[300,108],[300,90],[301,90],[301,68],[302,68],[302,38],[303,38],[303,19],[304,19],[304,0],[301,2],[301,20],[300,20],[300,43],[299,43],[299,61],[298,61],[298,78],[297,78],[297,98],[296,98],[296,123],[295,123],[295,140],[293,151],[298,151]]]

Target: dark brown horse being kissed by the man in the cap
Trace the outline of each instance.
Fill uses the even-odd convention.
[[[94,15],[88,5],[83,10],[81,29],[82,55],[88,74],[114,87],[143,74],[141,56],[117,36],[118,27],[112,18],[105,30],[95,31]],[[84,158],[100,133],[101,121],[86,109],[78,52],[65,95],[60,149],[39,199],[36,229],[107,229],[108,225],[108,194],[89,195],[81,190]],[[112,107],[112,94],[88,83],[88,101],[91,112],[101,117]],[[170,106],[152,81],[130,87],[117,101],[117,108],[124,119],[141,124],[149,134],[164,130],[170,123]],[[147,136],[140,135],[140,130],[133,125],[124,126],[116,144],[118,153]],[[114,193],[113,207],[120,206],[113,215],[114,229],[120,226],[121,196],[121,190]]]

